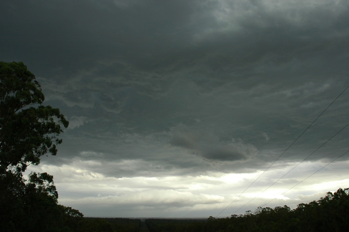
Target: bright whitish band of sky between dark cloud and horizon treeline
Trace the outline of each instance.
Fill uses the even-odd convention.
[[[261,178],[260,184],[251,186],[242,194],[221,217],[229,216],[236,209],[258,197],[247,204],[236,214],[243,214],[246,210],[254,210],[268,201],[276,198],[272,203],[266,205],[275,207],[288,205],[295,208],[297,204],[324,196],[327,189],[336,189],[348,186],[349,179],[343,173],[337,173],[337,178],[324,177],[325,173],[319,173],[319,177],[305,181],[301,185],[290,190],[287,194],[281,194],[288,186],[299,182],[305,169],[317,168],[322,162],[307,162],[299,172],[292,173],[290,178],[285,178],[280,185],[260,194],[263,186],[275,181],[284,170],[292,168],[294,163],[289,163],[284,169],[270,170]],[[349,162],[346,162],[348,165]],[[343,164],[345,165],[345,164]],[[105,177],[101,173],[79,169],[74,165],[41,165],[30,167],[28,171],[44,172],[57,176],[55,185],[60,194],[59,203],[69,205],[85,212],[85,216],[99,217],[208,217],[221,211],[246,188],[262,171],[255,173],[209,173],[200,176],[167,176],[167,177],[132,177],[114,178]],[[314,195],[314,191],[318,194]],[[312,197],[315,197],[314,199]],[[142,212],[146,210],[146,212]],[[86,212],[88,212],[86,214]],[[168,215],[168,216],[167,216]],[[195,216],[195,217],[196,217]],[[215,216],[215,215],[214,215]]]

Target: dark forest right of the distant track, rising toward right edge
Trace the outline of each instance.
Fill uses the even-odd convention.
[[[150,232],[346,232],[349,231],[349,188],[291,210],[258,207],[244,215],[209,217],[206,221],[147,219]]]

